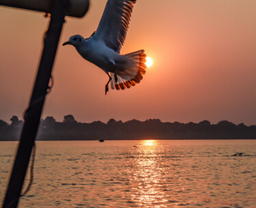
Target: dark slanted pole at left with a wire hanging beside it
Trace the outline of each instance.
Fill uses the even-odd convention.
[[[64,18],[68,10],[67,0],[54,0],[51,12],[51,20],[44,39],[44,49],[35,79],[33,93],[29,108],[25,115],[25,123],[20,136],[20,143],[16,153],[16,159],[12,168],[12,175],[3,201],[3,208],[14,208],[18,205],[20,192],[29,164],[29,158],[38,132],[38,125],[44,106],[44,98],[48,90],[51,71],[55,60],[55,54],[61,35]]]

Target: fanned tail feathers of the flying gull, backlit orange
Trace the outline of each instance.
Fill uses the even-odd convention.
[[[146,72],[145,57],[147,55],[145,55],[144,50],[128,53],[124,57],[128,58],[124,70],[117,71],[116,78],[114,73],[110,73],[112,89],[119,90],[135,86],[141,82],[143,74]]]

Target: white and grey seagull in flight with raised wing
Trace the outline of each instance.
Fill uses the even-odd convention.
[[[72,45],[87,61],[94,63],[108,76],[105,95],[111,89],[126,89],[140,83],[145,74],[145,51],[137,50],[120,55],[132,14],[137,0],[109,0],[98,25],[98,29],[89,37],[73,35],[65,45]]]

